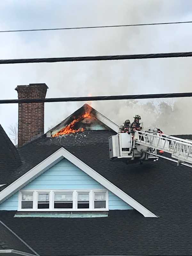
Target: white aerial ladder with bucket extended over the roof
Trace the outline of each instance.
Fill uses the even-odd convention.
[[[171,158],[158,154],[159,150],[171,154]],[[128,163],[157,161],[159,157],[192,167],[192,140],[160,134],[152,131],[118,133],[109,138],[110,160]]]

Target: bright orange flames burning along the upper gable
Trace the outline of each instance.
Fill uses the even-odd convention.
[[[84,115],[79,116],[78,118],[74,119],[70,124],[68,124],[62,130],[60,130],[59,132],[52,135],[52,137],[58,137],[58,136],[61,136],[61,135],[64,135],[64,134],[80,132],[80,129],[75,129],[74,126],[75,126],[76,123],[82,121],[84,118],[91,118],[91,115],[90,115],[91,110],[92,110],[92,108],[87,108],[85,110]],[[84,128],[81,128],[81,132],[84,132]]]

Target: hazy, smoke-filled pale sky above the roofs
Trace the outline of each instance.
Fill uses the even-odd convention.
[[[192,20],[192,1],[65,0],[0,1],[0,30],[105,26]],[[0,59],[72,57],[192,51],[192,23],[123,28],[0,33]],[[1,64],[1,99],[16,99],[17,85],[45,83],[47,98],[191,92],[192,58]],[[145,127],[154,123],[146,100],[92,102],[117,124],[140,114]],[[170,101],[166,102],[170,103]],[[173,102],[173,101],[172,101]],[[45,103],[45,131],[85,102]],[[159,100],[153,100],[158,107]],[[175,133],[192,133],[190,98],[174,101],[180,109]],[[174,115],[177,115],[175,113]],[[162,130],[172,133],[172,120]],[[18,119],[17,104],[0,105],[0,123]]]

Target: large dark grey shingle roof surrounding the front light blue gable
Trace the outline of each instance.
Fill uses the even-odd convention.
[[[14,218],[15,212],[1,211],[0,220],[42,256],[191,255],[191,169],[164,159],[129,165],[111,162],[108,137],[113,134],[42,136],[18,149],[22,164],[5,183],[64,147],[159,218],[144,218],[135,210],[109,211],[107,218],[90,219]],[[180,137],[192,139],[191,135]]]

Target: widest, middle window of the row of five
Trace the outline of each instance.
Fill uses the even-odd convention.
[[[73,208],[73,193],[54,193],[54,208]]]

